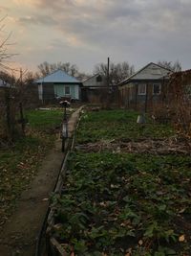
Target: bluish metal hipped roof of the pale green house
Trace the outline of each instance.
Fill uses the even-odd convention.
[[[36,80],[36,83],[41,82],[67,82],[67,83],[81,83],[80,81],[77,81],[74,77],[68,75],[65,71],[58,69],[54,71],[52,74]]]

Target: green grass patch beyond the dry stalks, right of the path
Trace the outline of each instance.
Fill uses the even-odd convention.
[[[149,118],[144,126],[137,124],[138,113],[127,110],[87,112],[77,130],[77,143],[101,139],[139,140],[163,139],[175,134],[170,125],[153,124]]]

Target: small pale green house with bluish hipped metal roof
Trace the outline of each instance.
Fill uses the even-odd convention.
[[[52,74],[35,81],[38,85],[39,100],[51,102],[59,98],[67,98],[71,100],[80,99],[81,81],[77,81],[74,77],[65,71],[58,69]]]

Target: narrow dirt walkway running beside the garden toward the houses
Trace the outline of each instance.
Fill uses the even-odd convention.
[[[72,135],[82,107],[69,120],[69,136]],[[6,222],[0,234],[0,256],[33,256],[40,228],[49,206],[49,196],[53,191],[61,168],[64,153],[61,142],[47,155],[39,172],[27,191],[19,199],[17,209]]]

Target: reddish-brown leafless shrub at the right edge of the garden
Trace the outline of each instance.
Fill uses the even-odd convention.
[[[165,101],[153,109],[153,118],[171,121],[180,133],[191,136],[191,70],[176,72],[166,84]]]

